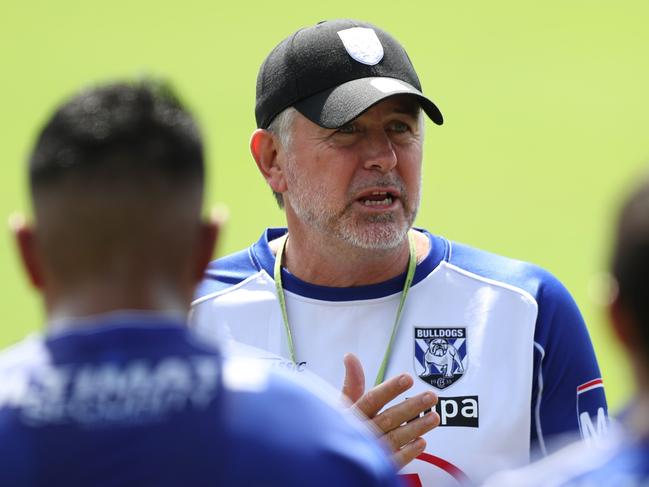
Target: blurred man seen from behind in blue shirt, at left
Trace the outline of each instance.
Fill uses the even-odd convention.
[[[98,87],[47,122],[16,227],[47,333],[0,355],[1,485],[396,487],[360,422],[188,331],[217,235],[203,172],[164,85]]]

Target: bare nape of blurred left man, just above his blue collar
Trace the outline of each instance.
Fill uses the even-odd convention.
[[[133,286],[107,282],[88,283],[63,292],[46,292],[48,322],[82,318],[119,310],[146,311],[185,316],[191,295],[182,296],[171,286],[160,283]]]

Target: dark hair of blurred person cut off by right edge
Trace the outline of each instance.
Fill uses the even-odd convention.
[[[620,212],[611,268],[618,299],[637,322],[649,350],[649,180]]]

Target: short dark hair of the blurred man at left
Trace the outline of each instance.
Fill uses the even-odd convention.
[[[63,104],[37,139],[34,192],[62,178],[203,179],[203,147],[191,115],[160,81],[113,83]]]

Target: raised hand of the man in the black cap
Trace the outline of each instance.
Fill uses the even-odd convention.
[[[407,465],[426,448],[426,440],[421,436],[439,425],[439,415],[435,412],[418,417],[437,404],[437,395],[431,391],[423,392],[381,411],[383,406],[412,387],[412,377],[401,374],[365,392],[365,374],[358,357],[348,353],[344,363],[342,393],[352,402],[354,409],[363,413],[378,428],[380,437],[390,446],[399,468]],[[412,418],[417,419],[410,421]]]

